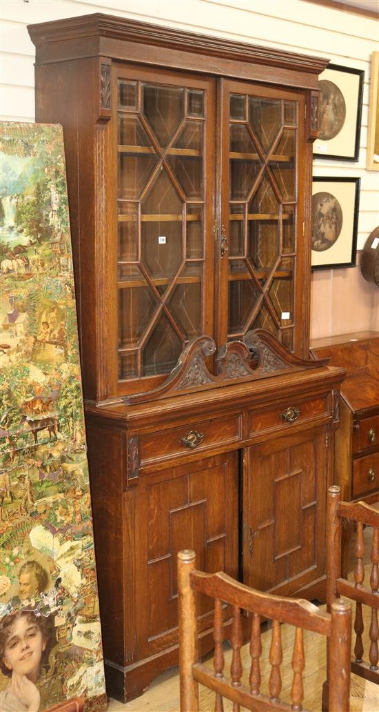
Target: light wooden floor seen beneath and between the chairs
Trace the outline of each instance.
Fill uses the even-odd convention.
[[[368,535],[370,530],[366,530]],[[367,538],[367,537],[365,537]],[[366,551],[368,548],[366,547]],[[366,579],[370,576],[370,565],[365,566]],[[324,609],[324,607],[321,607]],[[368,650],[369,638],[368,627],[370,625],[370,610],[365,612],[365,650]],[[267,629],[262,634],[262,692],[267,691],[267,679],[269,676],[269,663],[265,663],[268,658],[269,645],[271,642],[271,630],[268,624]],[[264,627],[265,627],[264,626]],[[292,686],[292,644],[294,639],[294,628],[289,625],[282,625],[282,694],[281,698],[289,702],[289,691]],[[315,712],[321,710],[321,688],[325,679],[325,643],[324,637],[317,634],[304,634],[304,651],[306,667],[304,670],[304,708]],[[228,644],[225,644],[225,670],[230,668],[231,652]],[[203,662],[212,666],[212,653]],[[246,684],[248,670],[250,668],[249,646],[246,644],[242,648],[242,664],[245,670],[245,677],[242,682]],[[266,674],[267,673],[267,674]],[[265,684],[266,680],[266,684]],[[214,693],[200,687],[199,706],[201,712],[212,712],[214,710]],[[224,700],[225,712],[231,712],[233,707],[228,700]],[[174,667],[166,670],[151,683],[144,694],[127,704],[110,700],[107,712],[178,712],[179,710],[179,680],[178,668]],[[241,708],[242,712],[242,708]],[[379,692],[378,686],[367,682],[356,675],[351,676],[351,712],[379,712]]]

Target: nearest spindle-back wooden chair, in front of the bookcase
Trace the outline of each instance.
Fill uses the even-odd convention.
[[[213,670],[198,661],[196,592],[215,600],[213,639],[215,652]],[[195,553],[183,550],[178,553],[179,596],[179,674],[181,686],[181,712],[198,712],[198,683],[215,692],[215,712],[223,712],[223,697],[233,701],[233,712],[240,708],[268,711],[301,710],[304,698],[302,673],[304,670],[303,629],[323,634],[331,640],[329,671],[329,702],[333,712],[348,712],[351,656],[351,605],[337,600],[331,614],[321,612],[308,601],[282,598],[255,591],[223,572],[207,574],[195,570]],[[232,661],[230,679],[224,674],[223,610],[222,602],[232,607],[230,645]],[[252,613],[250,656],[252,659],[249,687],[241,683],[241,612]],[[271,672],[269,695],[260,693],[261,673],[260,639],[261,617],[272,619],[272,641],[269,651]],[[280,623],[296,626],[292,669],[292,706],[280,700],[282,680],[280,664],[282,644]]]

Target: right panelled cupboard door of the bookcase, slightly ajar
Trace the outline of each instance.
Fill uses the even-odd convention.
[[[243,567],[253,588],[291,595],[324,575],[326,432],[245,451]]]

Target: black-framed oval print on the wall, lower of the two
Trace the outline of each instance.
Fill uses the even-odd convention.
[[[356,266],[360,187],[360,178],[313,179],[312,268]]]

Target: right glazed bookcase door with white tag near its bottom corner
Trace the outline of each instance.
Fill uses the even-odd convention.
[[[300,355],[304,95],[231,80],[221,95],[219,342],[263,328]]]

